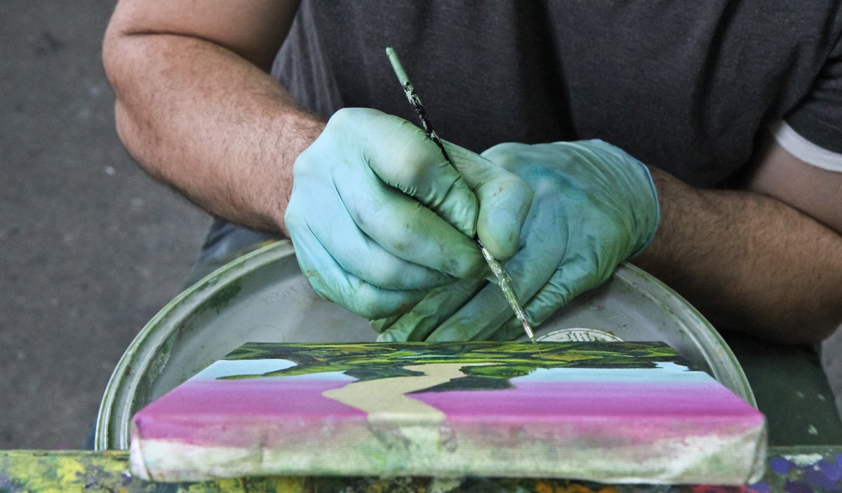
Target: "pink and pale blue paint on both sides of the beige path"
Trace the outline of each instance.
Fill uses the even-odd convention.
[[[267,360],[258,366],[266,365],[278,368]],[[319,430],[325,423],[339,432],[367,420],[364,411],[322,395],[355,381],[345,374],[216,379],[232,369],[237,370],[233,374],[242,374],[242,367],[209,368],[200,378],[152,402],[135,417],[138,431],[146,438],[247,446],[254,440],[283,442],[290,434]],[[759,412],[708,375],[678,366],[556,368],[510,382],[514,388],[419,392],[408,397],[443,411],[454,428],[575,425],[595,434],[608,427],[615,434],[649,439],[686,433],[690,428],[727,432],[734,425],[759,427],[764,421]],[[658,425],[662,432],[653,435],[658,421],[669,425]],[[623,427],[626,430],[621,432]],[[254,433],[260,433],[259,437]]]

